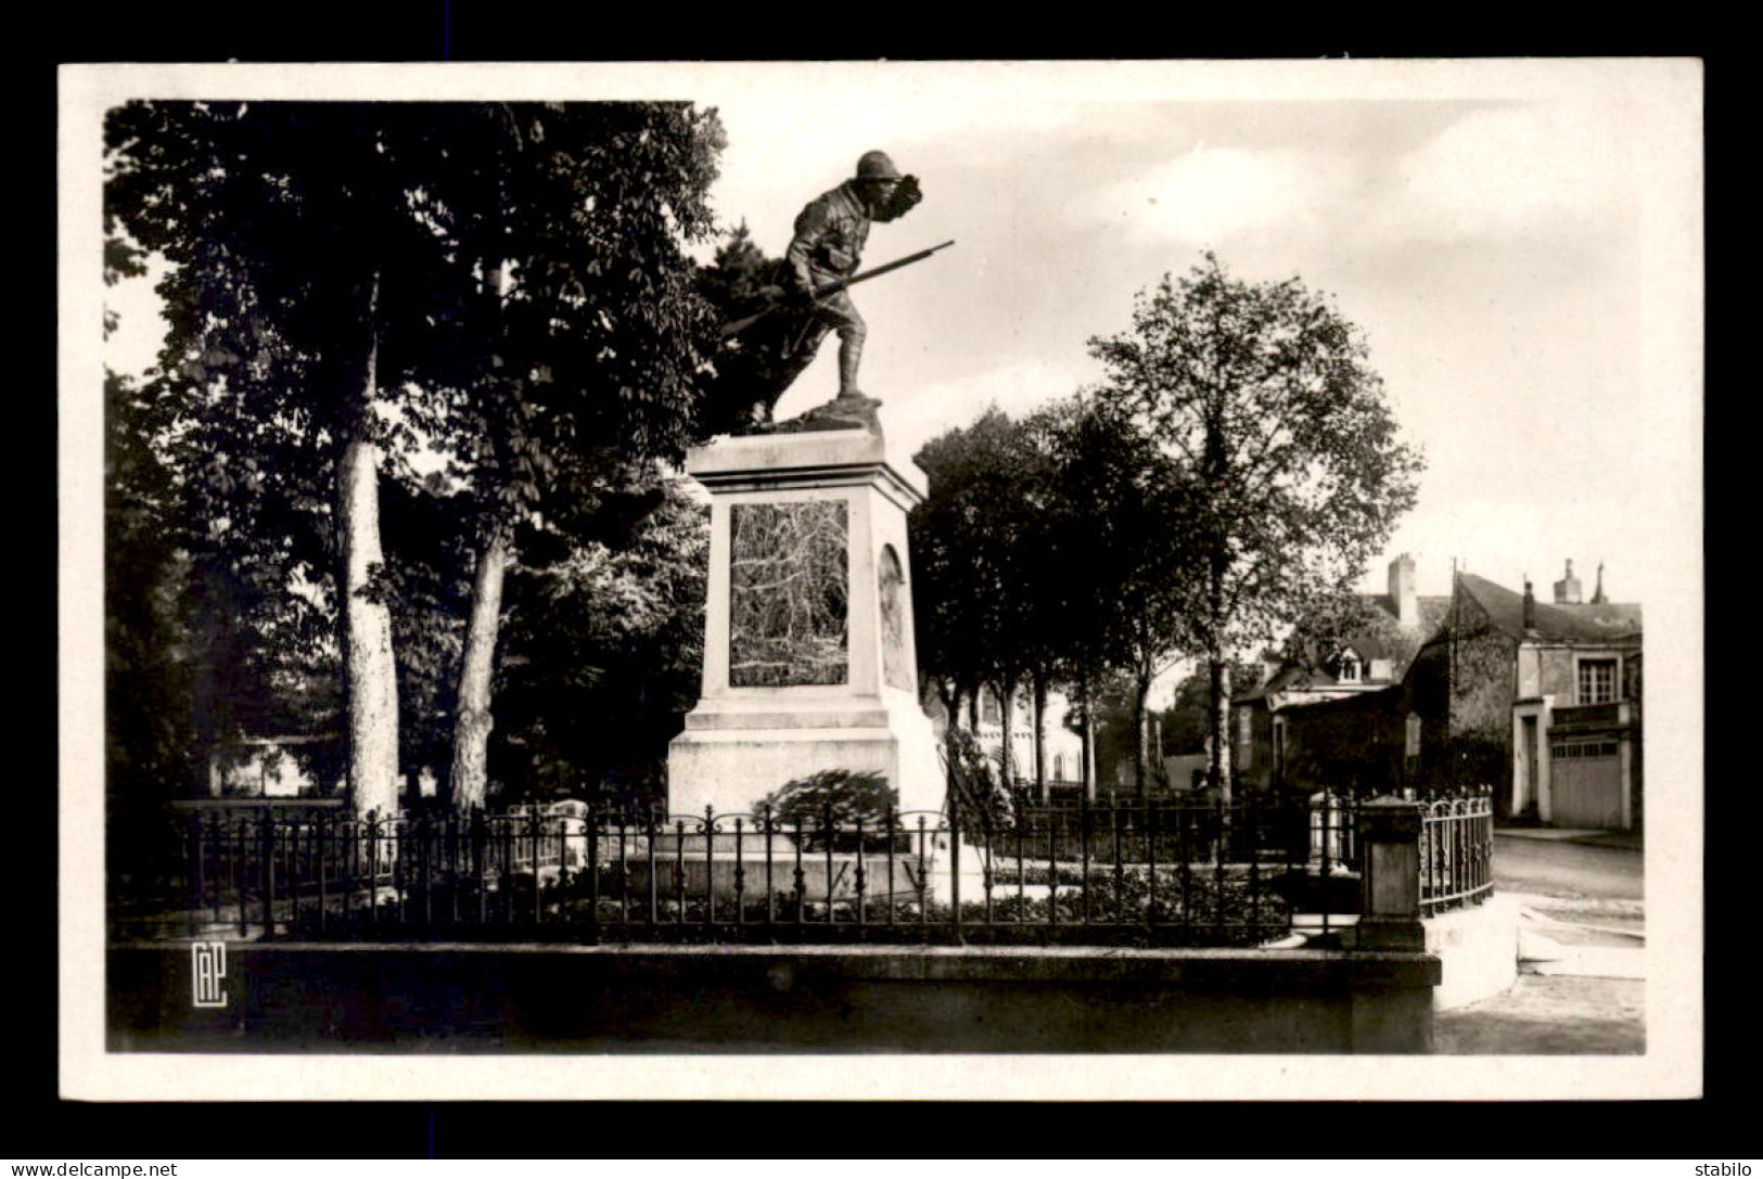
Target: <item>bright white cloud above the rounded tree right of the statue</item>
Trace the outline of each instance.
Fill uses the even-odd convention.
[[[1308,229],[1350,187],[1350,169],[1312,152],[1195,146],[1151,171],[1081,197],[1079,217],[1135,234],[1218,245],[1273,227]]]

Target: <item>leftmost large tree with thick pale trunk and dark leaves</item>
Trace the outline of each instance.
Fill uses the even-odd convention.
[[[407,444],[404,391],[448,384],[437,243],[465,122],[395,102],[130,102],[106,120],[106,208],[171,263],[150,395],[176,423],[185,506],[206,552],[335,604],[360,811],[398,800],[379,469]]]

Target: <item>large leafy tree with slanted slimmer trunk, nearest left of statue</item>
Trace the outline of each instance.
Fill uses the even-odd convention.
[[[712,231],[723,146],[714,111],[681,102],[487,111],[494,167],[453,210],[485,305],[462,323],[488,365],[425,421],[453,449],[478,548],[460,654],[451,795],[487,793],[502,583],[524,523],[591,527],[601,502],[654,483],[707,435],[714,308],[684,243]],[[659,497],[652,502],[659,502]],[[534,515],[536,513],[536,515]]]

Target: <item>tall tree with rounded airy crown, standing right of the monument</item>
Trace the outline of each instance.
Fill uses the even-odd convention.
[[[1141,293],[1132,330],[1095,337],[1098,398],[1139,421],[1192,479],[1183,578],[1211,680],[1209,782],[1225,797],[1229,659],[1359,576],[1416,499],[1363,335],[1296,278],[1250,284],[1213,254]]]

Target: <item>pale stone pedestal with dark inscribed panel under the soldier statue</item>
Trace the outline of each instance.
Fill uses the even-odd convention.
[[[686,471],[712,497],[710,576],[668,809],[748,812],[816,770],[878,772],[903,812],[941,809],[906,550],[924,472],[873,425],[719,439]]]

